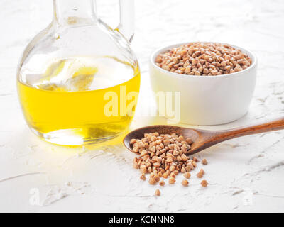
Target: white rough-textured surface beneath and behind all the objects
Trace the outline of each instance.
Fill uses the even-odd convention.
[[[118,1],[98,1],[111,26]],[[0,211],[284,211],[284,132],[230,140],[200,153],[209,182],[161,189],[141,182],[133,155],[119,144],[104,149],[60,148],[35,137],[16,95],[16,65],[29,40],[51,19],[51,1],[1,0]],[[224,129],[283,115],[284,3],[278,1],[136,0],[133,50],[142,72],[139,109],[147,104],[148,56],[160,45],[196,40],[232,43],[258,55],[258,82],[248,115]],[[141,107],[143,106],[143,108]],[[136,116],[132,128],[163,119]],[[101,150],[101,151],[100,151]],[[102,150],[105,150],[104,152]],[[194,175],[193,175],[194,176]],[[178,180],[180,181],[180,180]],[[32,206],[39,192],[40,206]],[[249,198],[249,202],[246,202]]]

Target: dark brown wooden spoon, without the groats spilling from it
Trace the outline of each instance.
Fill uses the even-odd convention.
[[[266,123],[259,123],[252,126],[244,126],[241,128],[233,128],[224,131],[206,131],[194,128],[182,128],[178,126],[147,126],[143,128],[138,128],[127,134],[124,138],[124,145],[131,152],[135,153],[130,145],[130,140],[132,138],[141,139],[144,137],[144,133],[176,133],[177,135],[182,135],[185,138],[192,138],[193,143],[191,145],[191,149],[188,150],[187,155],[193,155],[225,140],[231,140],[233,138],[237,138],[244,135],[277,131],[280,129],[284,129],[284,118],[278,118],[273,121],[268,121]],[[138,155],[138,153],[135,154]]]

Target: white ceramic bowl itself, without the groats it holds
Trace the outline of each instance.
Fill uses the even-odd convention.
[[[151,55],[153,92],[180,92],[180,123],[209,126],[229,123],[244,116],[249,110],[256,86],[256,55],[231,45],[249,55],[252,64],[246,70],[219,76],[178,74],[155,65],[155,57],[159,53],[183,44],[160,48]],[[165,117],[170,118],[167,114]]]

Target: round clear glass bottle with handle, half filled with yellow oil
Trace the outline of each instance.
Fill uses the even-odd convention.
[[[93,0],[54,0],[53,21],[28,44],[17,86],[31,130],[58,145],[109,140],[129,128],[140,88],[130,48],[133,0],[120,0],[116,29]]]

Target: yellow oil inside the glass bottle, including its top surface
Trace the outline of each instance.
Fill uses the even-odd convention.
[[[28,126],[44,140],[84,145],[114,138],[133,118],[138,66],[114,58],[75,57],[52,62],[41,74],[18,79]]]

